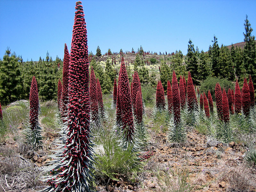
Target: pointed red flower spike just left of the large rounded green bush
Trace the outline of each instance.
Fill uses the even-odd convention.
[[[198,108],[196,92],[194,89],[194,84],[193,84],[193,80],[191,78],[190,71],[188,71],[187,97],[188,97],[188,111],[191,112],[192,110]]]

